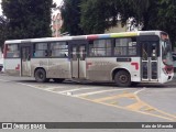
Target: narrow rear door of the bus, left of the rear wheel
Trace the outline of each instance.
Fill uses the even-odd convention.
[[[21,47],[21,75],[31,76],[31,47]]]

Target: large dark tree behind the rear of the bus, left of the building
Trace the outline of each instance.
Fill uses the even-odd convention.
[[[9,21],[8,38],[51,36],[52,8],[53,0],[2,0]]]

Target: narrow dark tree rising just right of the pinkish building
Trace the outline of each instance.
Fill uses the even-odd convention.
[[[80,2],[81,0],[64,0],[61,8],[64,20],[62,32],[68,32],[70,35],[84,34],[80,28]]]

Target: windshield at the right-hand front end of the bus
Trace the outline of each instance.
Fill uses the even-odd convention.
[[[173,66],[172,47],[168,40],[162,41],[162,58],[167,66]]]

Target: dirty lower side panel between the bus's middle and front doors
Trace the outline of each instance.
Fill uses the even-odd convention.
[[[125,58],[125,57],[124,57]],[[87,79],[95,81],[112,81],[116,69],[125,69],[130,73],[132,81],[140,81],[140,58],[133,57],[130,62],[117,62],[117,57],[87,58]],[[136,65],[132,65],[136,63]]]

